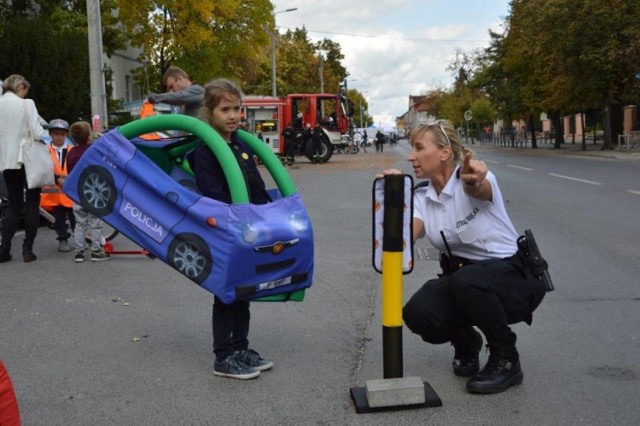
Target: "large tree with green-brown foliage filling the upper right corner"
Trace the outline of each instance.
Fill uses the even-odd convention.
[[[640,2],[512,0],[505,24],[505,34],[491,34],[475,83],[509,119],[619,111],[638,100]]]

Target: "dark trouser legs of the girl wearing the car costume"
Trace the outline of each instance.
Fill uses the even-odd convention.
[[[227,304],[214,296],[211,320],[216,360],[223,361],[235,351],[249,348],[249,302]]]

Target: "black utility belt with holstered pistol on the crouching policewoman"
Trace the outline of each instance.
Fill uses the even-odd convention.
[[[531,230],[525,230],[524,235],[518,237],[517,243],[517,253],[504,260],[530,270],[533,275],[544,283],[547,291],[553,291],[554,287],[551,276],[549,275],[549,265],[540,254],[540,249],[538,249],[538,244]],[[473,265],[475,262],[476,261],[465,257],[447,255],[446,253],[440,252],[440,267],[445,275],[451,275],[458,269],[462,269],[467,265]]]

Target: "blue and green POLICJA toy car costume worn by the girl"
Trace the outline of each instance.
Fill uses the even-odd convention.
[[[162,130],[190,134],[160,141]],[[225,303],[302,300],[313,275],[313,230],[293,182],[258,138],[240,139],[261,159],[278,190],[250,204],[228,144],[206,123],[184,115],[144,118],[96,140],[65,181],[75,202],[99,216]],[[232,204],[198,193],[186,156],[205,143],[220,162]]]

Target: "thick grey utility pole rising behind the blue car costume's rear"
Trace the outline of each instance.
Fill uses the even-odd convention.
[[[87,26],[89,33],[89,78],[91,96],[91,122],[94,131],[101,132],[108,127],[107,95],[104,82],[104,61],[102,57],[102,23],[100,1],[87,0]],[[100,127],[95,129],[95,127]]]

